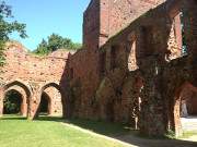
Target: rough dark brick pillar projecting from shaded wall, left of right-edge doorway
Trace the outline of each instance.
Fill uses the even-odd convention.
[[[161,74],[157,60],[148,59],[143,68],[144,85],[141,91],[140,131],[149,136],[163,136],[164,100],[161,94]]]

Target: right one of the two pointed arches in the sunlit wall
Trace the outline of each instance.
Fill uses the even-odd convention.
[[[59,85],[49,83],[43,86],[36,115],[62,117],[62,94]]]

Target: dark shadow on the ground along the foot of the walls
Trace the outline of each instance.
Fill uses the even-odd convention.
[[[20,115],[3,117],[2,120],[25,120],[26,118]],[[65,120],[60,117],[40,115],[35,121],[54,121],[72,124],[81,128],[102,134],[137,147],[197,147],[197,142],[179,140],[179,139],[163,139],[160,137],[139,136],[138,131],[134,131],[127,125],[119,123],[109,123],[104,121],[92,121],[84,119]]]

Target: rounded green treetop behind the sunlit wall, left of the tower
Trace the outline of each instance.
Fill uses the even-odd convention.
[[[81,44],[76,44],[69,38],[53,34],[48,37],[47,41],[43,39],[37,49],[33,52],[36,54],[48,54],[58,49],[78,50],[80,48]]]

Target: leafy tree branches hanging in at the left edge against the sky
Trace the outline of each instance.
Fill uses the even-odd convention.
[[[18,23],[16,21],[8,22],[7,19],[13,19],[11,7],[0,0],[0,66],[5,62],[3,51],[5,42],[10,39],[9,35],[18,32],[20,37],[27,37],[25,24]]]

